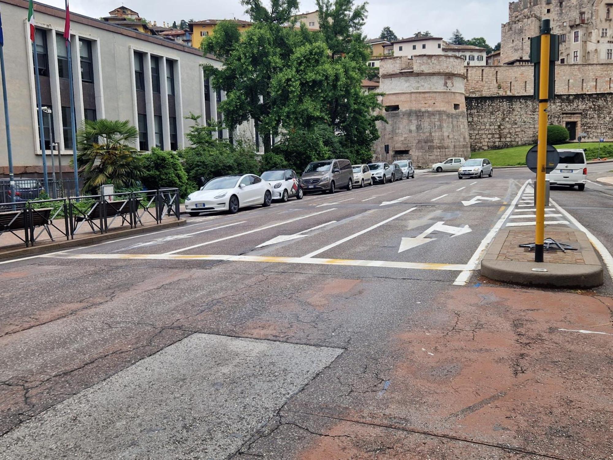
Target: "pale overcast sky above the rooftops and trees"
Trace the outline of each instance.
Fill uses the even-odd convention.
[[[64,7],[64,0],[39,0]],[[70,10],[91,17],[106,16],[121,6],[121,0],[70,0]],[[203,20],[248,19],[240,0],[125,0],[123,4],[150,21],[172,23],[181,19]],[[390,26],[398,37],[410,37],[417,31],[430,31],[449,39],[460,29],[466,39],[485,37],[490,45],[500,42],[500,25],[508,21],[508,0],[371,0],[364,33],[378,37],[384,26]],[[314,0],[300,2],[300,12],[315,9]]]

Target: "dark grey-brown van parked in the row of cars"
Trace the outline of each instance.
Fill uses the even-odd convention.
[[[305,191],[334,193],[338,188],[353,188],[353,169],[348,159],[313,161],[302,174]]]

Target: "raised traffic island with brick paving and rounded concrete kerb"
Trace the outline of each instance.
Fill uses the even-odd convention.
[[[524,286],[595,288],[603,284],[603,266],[584,232],[546,226],[545,236],[577,250],[546,250],[544,263],[536,263],[534,251],[520,247],[534,241],[534,230],[503,230],[481,261],[481,274]]]

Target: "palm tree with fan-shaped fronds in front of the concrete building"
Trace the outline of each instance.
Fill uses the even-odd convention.
[[[138,140],[139,131],[129,121],[85,120],[77,131],[83,192],[97,193],[101,185],[111,183],[115,187],[137,186],[145,172],[142,156],[134,147]]]

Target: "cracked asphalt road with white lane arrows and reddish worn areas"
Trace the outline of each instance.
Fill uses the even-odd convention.
[[[547,208],[605,263],[612,170]],[[0,263],[2,458],[611,458],[611,274],[478,275],[533,225],[532,177],[421,172]]]

